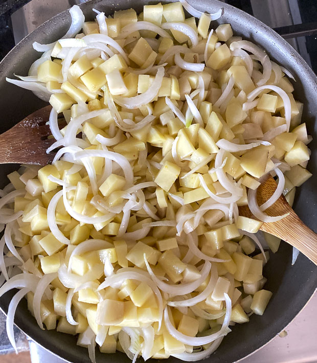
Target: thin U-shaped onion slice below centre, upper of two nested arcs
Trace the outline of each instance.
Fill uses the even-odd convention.
[[[190,292],[196,290],[196,288],[198,286],[200,286],[203,283],[203,281],[206,280],[206,278],[210,272],[210,268],[211,268],[211,263],[209,261],[206,261],[200,271],[201,276],[197,280],[195,280],[193,282],[184,283],[184,284],[172,285],[172,284],[167,284],[164,281],[161,281],[154,275],[146,258],[144,258],[144,262],[145,262],[146,268],[148,270],[148,273],[150,274],[151,279],[155,282],[155,284],[162,291],[165,291],[165,292],[171,294],[172,296],[185,295],[187,293],[190,293]]]

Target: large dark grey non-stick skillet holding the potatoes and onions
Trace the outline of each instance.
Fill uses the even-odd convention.
[[[165,2],[163,0],[163,3]],[[148,4],[146,0],[121,0],[120,2],[117,2],[117,0],[92,0],[81,5],[81,9],[86,16],[86,20],[92,20],[94,15],[96,15],[93,13],[92,8],[103,10],[106,14],[112,14],[115,10],[131,7],[137,12],[141,12],[143,5],[146,4]],[[275,59],[295,75],[297,80],[297,82],[293,82],[295,97],[304,103],[302,120],[307,123],[309,133],[313,135],[313,141],[310,143],[312,154],[308,169],[314,174],[302,188],[299,188],[296,196],[295,210],[302,220],[312,230],[317,232],[315,216],[317,191],[314,188],[317,175],[316,76],[300,55],[284,39],[261,21],[217,0],[199,0],[195,2],[194,6],[201,11],[211,13],[223,7],[224,14],[219,19],[219,22],[230,22],[235,34],[240,34],[243,38],[261,44],[271,59]],[[2,118],[0,132],[7,130],[44,105],[30,91],[6,83],[5,77],[13,77],[13,73],[27,75],[31,63],[39,56],[33,50],[32,42],[35,40],[41,43],[52,42],[65,34],[69,25],[70,15],[68,12],[65,11],[56,15],[21,40],[0,63],[0,115]],[[216,22],[214,22],[213,26],[216,26]],[[8,183],[5,175],[14,168],[12,165],[1,166],[0,173],[2,177],[0,187],[4,187]],[[291,266],[291,247],[285,242],[281,244],[278,253],[275,255],[271,254],[270,260],[265,266],[264,276],[268,279],[265,287],[273,291],[273,297],[268,304],[264,316],[253,315],[250,323],[238,324],[233,327],[233,332],[224,338],[222,344],[210,360],[231,363],[259,349],[278,334],[298,314],[317,286],[316,266],[303,255],[300,255],[296,264]],[[7,293],[0,299],[0,307],[4,311],[7,311],[12,296],[13,292],[11,291],[11,293]],[[76,346],[76,337],[61,334],[55,330],[40,330],[35,319],[28,311],[25,300],[19,304],[15,316],[15,322],[19,328],[44,348],[70,362],[89,362],[87,350]],[[98,362],[129,361],[121,353],[101,355],[98,349],[96,349],[96,352]],[[169,362],[176,361],[176,358],[169,358]]]

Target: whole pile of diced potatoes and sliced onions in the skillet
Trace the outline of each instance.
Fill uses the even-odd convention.
[[[92,361],[96,344],[200,360],[269,302],[263,248],[280,240],[258,231],[311,176],[303,104],[287,70],[212,22],[222,9],[95,12],[85,22],[74,6],[62,39],[33,44],[44,53],[29,76],[7,79],[50,102],[58,149],[1,191],[0,296],[20,289],[8,335],[15,347],[26,296],[41,329],[79,334]],[[259,206],[269,174],[278,186]]]

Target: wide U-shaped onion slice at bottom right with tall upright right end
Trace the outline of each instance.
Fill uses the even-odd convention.
[[[205,344],[215,341],[217,338],[219,338],[221,336],[227,335],[231,331],[228,327],[229,327],[229,323],[230,323],[232,304],[231,304],[231,299],[229,298],[227,293],[224,293],[224,299],[225,299],[225,305],[226,305],[226,312],[225,312],[223,324],[221,326],[221,329],[218,332],[213,333],[211,335],[206,335],[206,336],[192,337],[192,336],[185,335],[185,334],[179,332],[177,329],[175,329],[175,327],[172,325],[170,318],[169,318],[169,312],[168,312],[169,308],[166,306],[164,309],[164,322],[165,322],[167,330],[179,342],[182,342],[184,344],[191,345],[191,346],[205,345]]]

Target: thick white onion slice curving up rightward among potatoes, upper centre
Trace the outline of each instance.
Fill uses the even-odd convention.
[[[143,94],[134,97],[116,97],[114,98],[115,102],[120,106],[124,106],[130,109],[139,108],[143,105],[146,105],[147,103],[151,102],[159,92],[162,85],[164,73],[164,67],[160,67],[157,70],[153,83]]]

